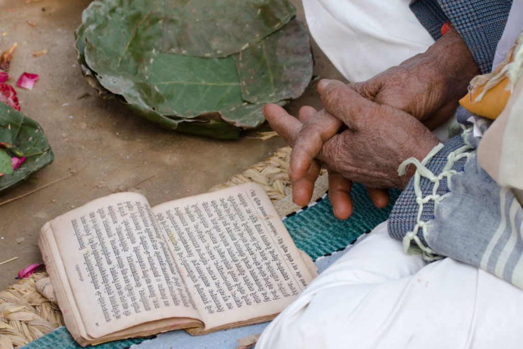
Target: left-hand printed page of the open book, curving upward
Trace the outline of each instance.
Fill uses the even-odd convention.
[[[199,319],[147,200],[119,193],[50,222],[88,336],[163,318]]]

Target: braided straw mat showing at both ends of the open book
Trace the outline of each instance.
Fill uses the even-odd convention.
[[[287,174],[290,152],[289,147],[281,148],[266,161],[254,164],[228,182],[214,186],[211,191],[256,182],[273,202],[279,201],[292,192]],[[281,216],[285,215],[283,211],[278,211]],[[39,279],[47,276],[46,272],[33,274],[0,292],[1,349],[25,345],[63,325],[58,306],[44,298],[35,287]]]

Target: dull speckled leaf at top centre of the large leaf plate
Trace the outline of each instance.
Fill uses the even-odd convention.
[[[288,0],[166,1],[162,51],[227,57],[283,27],[295,14]]]

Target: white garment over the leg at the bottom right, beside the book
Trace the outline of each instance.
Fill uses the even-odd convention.
[[[425,266],[386,222],[320,274],[256,348],[518,348],[523,292],[445,258]]]

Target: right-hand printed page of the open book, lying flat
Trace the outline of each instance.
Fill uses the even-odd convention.
[[[274,316],[313,275],[267,194],[243,184],[153,207],[205,331]]]

